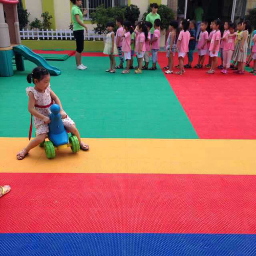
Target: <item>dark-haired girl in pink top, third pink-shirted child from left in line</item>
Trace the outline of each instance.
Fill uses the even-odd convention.
[[[147,27],[144,23],[139,23],[136,28],[136,44],[135,44],[135,51],[138,57],[138,69],[135,70],[135,74],[142,73],[142,66],[143,66],[143,57],[146,51],[146,39],[147,39]]]

